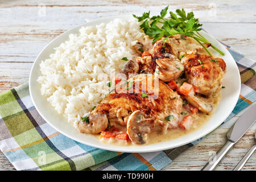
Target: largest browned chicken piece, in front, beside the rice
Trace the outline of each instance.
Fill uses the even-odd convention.
[[[130,78],[128,82],[130,86],[127,84],[121,93],[108,94],[91,114],[107,114],[110,122],[125,125],[131,119],[130,115],[134,111],[139,110],[142,111],[144,118],[155,118],[155,125],[158,125],[156,127],[157,130],[164,131],[167,128],[172,129],[177,127],[177,123],[182,118],[181,110],[183,102],[176,92],[160,80],[158,86],[154,85],[155,78],[153,75],[139,74]],[[165,118],[170,115],[173,118],[167,121]],[[146,122],[147,119],[143,119],[143,121]],[[147,126],[146,123],[145,125],[140,123],[141,125]],[[142,130],[149,130],[148,128],[131,131],[132,129],[129,128],[130,134],[133,132],[138,133],[138,131]],[[143,141],[146,142],[146,139],[143,139]]]

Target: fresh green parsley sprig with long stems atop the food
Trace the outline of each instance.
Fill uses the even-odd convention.
[[[142,22],[141,28],[144,33],[151,38],[152,43],[156,42],[162,37],[165,37],[163,41],[168,39],[172,35],[180,34],[181,38],[185,39],[184,36],[189,36],[195,39],[205,51],[208,52],[210,56],[212,53],[204,46],[203,43],[209,43],[199,31],[201,30],[202,24],[199,23],[199,19],[194,17],[194,13],[191,11],[185,13],[185,10],[176,10],[176,14],[172,11],[169,12],[170,18],[165,18],[167,15],[168,6],[164,8],[160,15],[150,17],[150,11],[148,13],[143,13],[142,16],[133,15],[134,18],[137,18],[139,22]],[[224,55],[222,51],[210,44],[210,46],[219,52],[221,55]]]

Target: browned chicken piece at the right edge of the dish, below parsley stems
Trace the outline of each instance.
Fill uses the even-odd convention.
[[[225,61],[208,55],[185,55],[181,59],[189,84],[197,86],[197,93],[210,96],[218,93],[222,75],[226,71]]]

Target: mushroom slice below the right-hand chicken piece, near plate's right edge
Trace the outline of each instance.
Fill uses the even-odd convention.
[[[212,105],[206,103],[206,101],[204,101],[200,96],[189,95],[185,96],[185,99],[189,102],[189,104],[197,107],[203,113],[210,113],[213,110]]]

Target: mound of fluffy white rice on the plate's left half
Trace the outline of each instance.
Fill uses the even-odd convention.
[[[122,57],[133,57],[133,46],[144,36],[136,19],[114,19],[79,32],[42,61],[38,77],[42,95],[74,126],[109,93],[110,73],[123,67]]]

